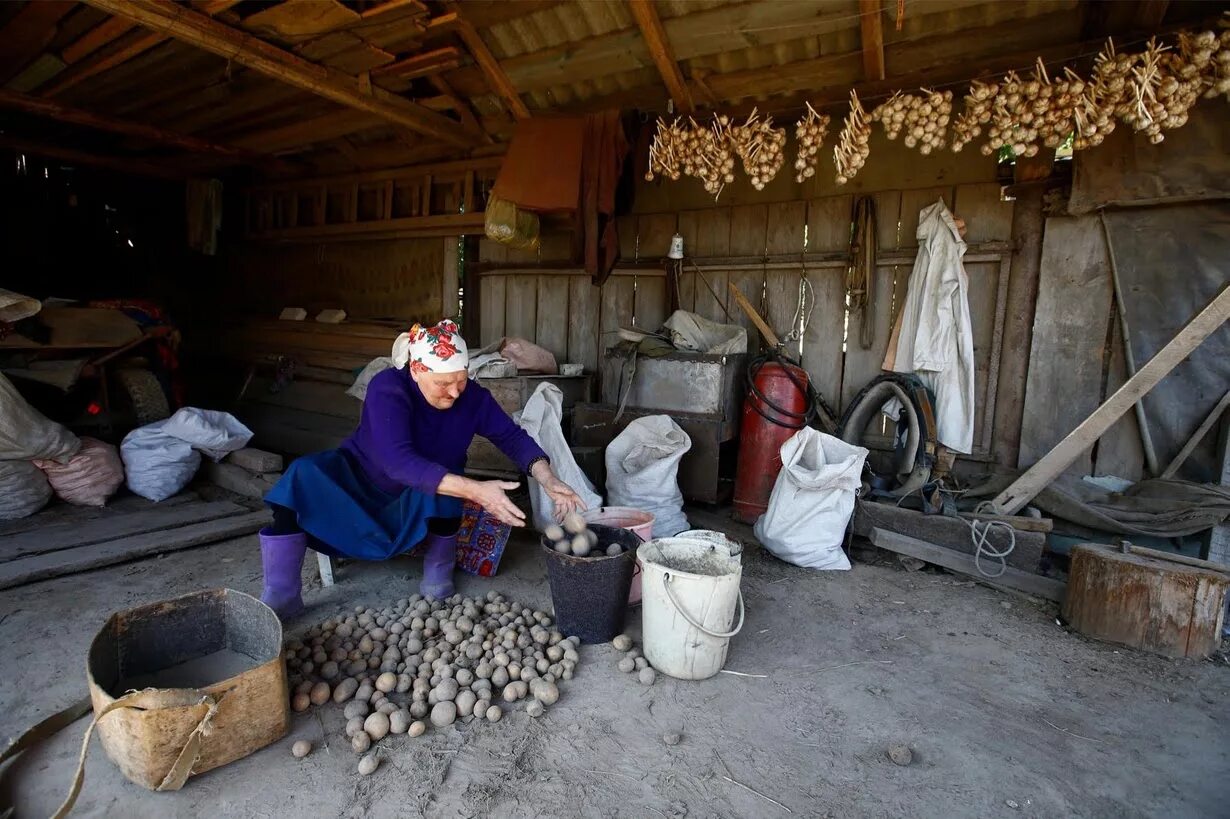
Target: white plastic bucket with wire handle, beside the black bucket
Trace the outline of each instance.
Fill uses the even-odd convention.
[[[740,551],[729,541],[700,537],[659,537],[636,550],[641,638],[653,668],[680,680],[722,670],[731,637],[743,628]]]

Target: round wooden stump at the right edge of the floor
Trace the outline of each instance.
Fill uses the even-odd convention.
[[[1212,654],[1221,642],[1230,576],[1132,548],[1073,547],[1063,607],[1068,623],[1089,637],[1166,657]]]

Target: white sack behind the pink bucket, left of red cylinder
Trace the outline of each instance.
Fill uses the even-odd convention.
[[[669,416],[637,418],[606,448],[606,503],[653,515],[653,536],[691,526],[679,491],[679,461],[691,438]]]

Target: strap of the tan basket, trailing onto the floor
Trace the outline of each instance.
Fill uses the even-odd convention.
[[[212,721],[214,714],[218,713],[218,706],[221,702],[221,696],[215,697],[198,689],[145,689],[144,691],[125,694],[96,713],[93,719],[90,721],[90,726],[85,729],[85,737],[81,739],[81,753],[77,755],[77,766],[69,786],[69,793],[64,798],[64,802],[60,803],[60,807],[57,808],[55,813],[52,814],[52,819],[63,819],[63,817],[66,817],[73,809],[73,805],[76,804],[77,797],[81,794],[81,786],[85,782],[85,759],[90,750],[90,738],[93,735],[95,727],[108,713],[122,708],[135,708],[139,711],[189,707],[199,708],[200,718],[197,722],[197,726],[192,729],[192,733],[188,734],[188,740],[183,744],[183,748],[180,749],[180,754],[176,756],[171,769],[155,788],[156,791],[178,791],[183,787],[183,783],[188,781],[188,776],[192,775],[193,766],[197,764],[197,760],[200,759],[202,739],[208,737],[212,730]],[[16,756],[21,751],[28,750],[30,748],[33,748],[34,745],[50,738],[62,728],[65,728],[80,719],[89,711],[90,697],[82,697],[59,713],[43,719],[37,726],[17,737],[17,739],[9,743],[9,746],[0,753],[0,765],[4,765],[5,761]],[[9,810],[0,813],[0,819],[5,819],[10,815],[11,810],[12,809],[10,808]]]

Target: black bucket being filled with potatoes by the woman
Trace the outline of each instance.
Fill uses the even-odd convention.
[[[598,535],[594,557],[561,555],[546,536],[541,542],[546,551],[556,627],[566,637],[576,635],[583,643],[606,643],[624,630],[627,592],[641,539],[627,529],[599,524],[589,524],[589,529]],[[624,551],[605,555],[601,550],[611,544],[619,544]]]

